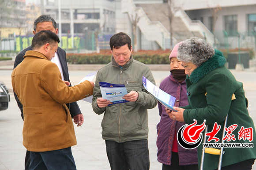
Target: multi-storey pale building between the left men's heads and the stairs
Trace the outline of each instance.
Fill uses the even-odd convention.
[[[64,48],[95,50],[97,41],[101,48],[106,48],[106,42],[116,33],[116,2],[113,0],[47,0],[44,11],[56,20]]]

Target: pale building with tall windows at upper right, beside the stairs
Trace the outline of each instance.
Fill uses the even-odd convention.
[[[181,0],[182,8],[192,20],[200,20],[214,31],[220,42],[219,48],[225,46],[225,38],[230,48],[255,48],[256,1],[255,0]],[[212,13],[216,8],[218,12]],[[213,16],[216,16],[213,28]]]

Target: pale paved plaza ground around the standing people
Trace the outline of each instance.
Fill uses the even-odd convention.
[[[6,67],[7,68],[7,67]],[[256,122],[256,72],[245,70],[237,72],[231,70],[238,81],[244,83],[246,97],[249,101],[249,113]],[[23,120],[14,99],[11,87],[11,69],[0,69],[0,81],[4,81],[10,89],[11,102],[6,111],[0,111],[0,170],[23,170],[26,149],[22,144]],[[85,75],[92,73],[92,70],[71,70],[69,71],[72,85],[77,84]],[[169,71],[152,71],[157,86],[163,78],[169,75]],[[93,112],[90,103],[78,101],[79,107],[84,115],[83,127],[75,126],[77,145],[72,147],[72,153],[78,170],[110,170],[109,162],[105,151],[105,141],[102,140],[101,121],[103,115]],[[162,164],[157,161],[156,147],[156,125],[160,120],[158,107],[148,111],[149,123],[149,152],[150,169],[161,170]],[[225,156],[225,155],[224,155]],[[256,166],[253,166],[256,170]]]

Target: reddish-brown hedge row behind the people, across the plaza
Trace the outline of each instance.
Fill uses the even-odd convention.
[[[221,50],[223,55],[227,58],[226,50]],[[237,49],[231,49],[230,52],[237,52]],[[254,58],[252,49],[241,49],[241,51],[248,51],[250,59]],[[145,64],[169,64],[169,50],[140,50],[132,52],[133,58]],[[100,53],[90,54],[75,54],[67,53],[67,62],[70,64],[107,64],[111,61],[110,50],[101,50]]]

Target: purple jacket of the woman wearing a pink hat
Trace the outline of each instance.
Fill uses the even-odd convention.
[[[174,106],[181,107],[188,105],[187,87],[185,80],[181,83],[177,82],[172,74],[165,78],[161,84],[160,89],[168,94],[176,97]],[[174,132],[185,125],[184,122],[177,122],[172,120],[168,114],[166,114],[165,107],[158,102],[159,115],[161,116],[160,122],[157,125],[157,147],[158,147],[158,162],[170,165],[172,156],[172,147]],[[178,143],[179,165],[192,165],[198,164],[197,162],[197,150],[184,149]]]

